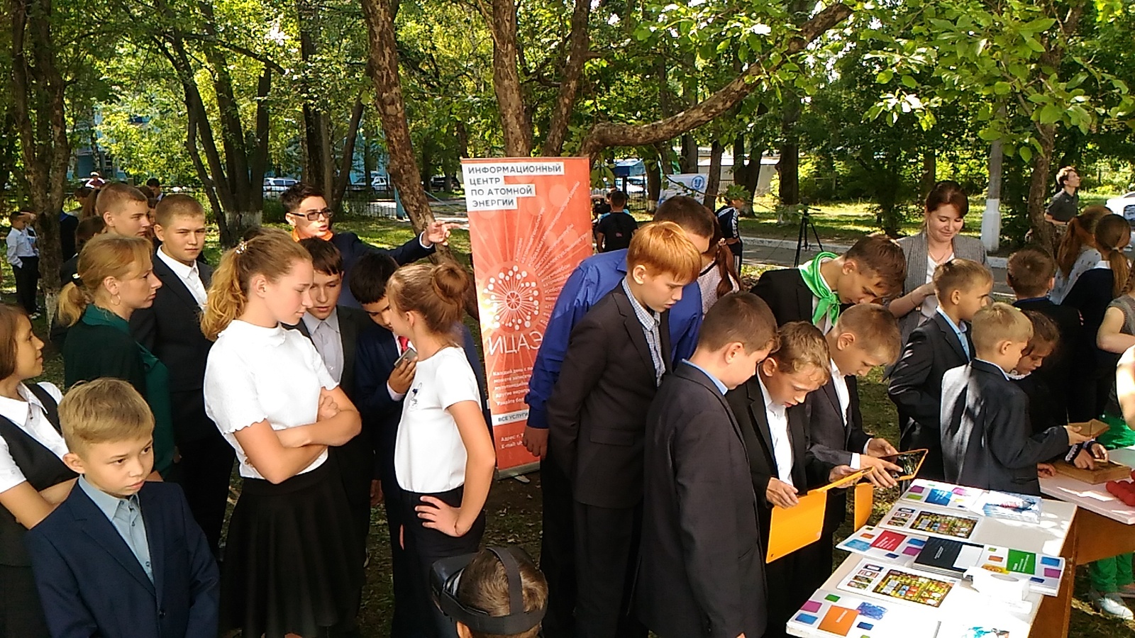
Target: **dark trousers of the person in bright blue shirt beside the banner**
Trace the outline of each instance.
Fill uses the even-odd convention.
[[[540,571],[548,581],[545,638],[575,635],[575,523],[571,481],[550,452],[540,462],[544,496],[544,534],[540,537]]]

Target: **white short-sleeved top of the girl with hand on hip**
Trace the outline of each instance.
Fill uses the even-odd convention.
[[[465,482],[469,456],[457,422],[447,411],[462,401],[481,404],[464,350],[444,347],[418,361],[394,444],[394,472],[403,489],[437,494]]]

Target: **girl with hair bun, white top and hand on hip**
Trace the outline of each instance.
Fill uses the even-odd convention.
[[[477,377],[457,328],[469,276],[455,265],[406,266],[386,286],[390,326],[418,352],[394,445],[404,490],[403,545],[421,631],[456,638],[452,620],[430,599],[435,561],[479,549],[496,452],[481,412]],[[389,504],[388,504],[389,506]]]

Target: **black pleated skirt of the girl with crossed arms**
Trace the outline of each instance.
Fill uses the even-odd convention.
[[[222,630],[308,638],[353,626],[363,556],[331,464],[279,485],[244,479],[221,570]]]

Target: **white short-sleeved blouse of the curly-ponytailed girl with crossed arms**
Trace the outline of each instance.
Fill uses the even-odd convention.
[[[205,364],[205,413],[236,450],[241,476],[264,478],[234,433],[267,420],[274,430],[314,423],[320,388],[338,386],[311,341],[299,330],[235,320],[217,337]],[[319,455],[303,472],[327,460]]]

